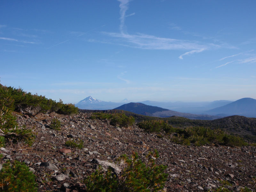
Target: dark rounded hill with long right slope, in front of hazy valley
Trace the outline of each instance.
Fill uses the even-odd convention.
[[[155,116],[155,117],[170,117],[170,116],[180,116],[186,117],[189,119],[202,119],[202,120],[212,120],[221,118],[221,116],[209,116],[209,115],[196,115],[190,113],[180,113],[177,111],[172,111],[160,107],[150,106],[143,103],[128,103],[124,104],[120,107],[115,109],[120,109],[124,111],[130,111],[133,113],[137,113],[140,115],[147,115],[147,116]]]

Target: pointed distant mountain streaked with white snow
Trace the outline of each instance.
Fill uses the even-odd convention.
[[[124,103],[106,102],[89,96],[76,103],[75,106],[80,109],[107,110],[116,108],[123,104]]]

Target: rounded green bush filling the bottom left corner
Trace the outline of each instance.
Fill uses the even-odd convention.
[[[15,161],[3,164],[0,171],[0,192],[35,192],[37,191],[35,175],[24,163]]]

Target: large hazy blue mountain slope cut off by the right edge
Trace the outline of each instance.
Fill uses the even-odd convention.
[[[226,116],[256,117],[256,100],[252,98],[239,99],[222,107],[205,111],[205,113],[209,115],[226,114]]]

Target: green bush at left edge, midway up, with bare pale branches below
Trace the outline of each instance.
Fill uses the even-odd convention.
[[[5,140],[9,143],[23,141],[28,145],[32,145],[35,138],[31,129],[27,129],[25,126],[18,127],[16,117],[5,106],[0,110],[0,130],[0,135],[2,136],[0,145],[4,145]]]

